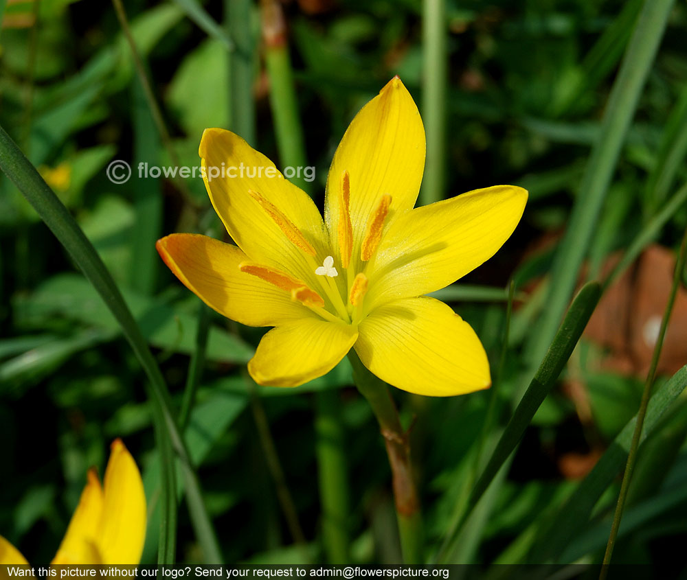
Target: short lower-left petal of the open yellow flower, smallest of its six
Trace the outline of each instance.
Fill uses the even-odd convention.
[[[248,371],[258,384],[298,386],[332,370],[358,336],[351,325],[302,320],[262,337]]]

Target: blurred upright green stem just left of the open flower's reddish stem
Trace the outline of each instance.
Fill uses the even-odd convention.
[[[348,469],[337,391],[315,393],[315,449],[319,497],[322,503],[322,542],[328,564],[348,563]]]

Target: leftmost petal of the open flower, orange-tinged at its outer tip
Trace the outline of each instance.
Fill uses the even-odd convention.
[[[210,308],[249,326],[276,326],[311,312],[270,283],[239,270],[247,259],[236,246],[212,237],[174,233],[157,241],[174,275]]]

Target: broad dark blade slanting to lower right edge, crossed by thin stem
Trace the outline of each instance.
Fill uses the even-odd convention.
[[[682,367],[657,389],[646,409],[640,443],[649,437],[664,413],[671,408],[686,386],[687,366]],[[592,471],[570,494],[561,508],[556,510],[548,522],[543,522],[537,533],[537,540],[528,555],[530,564],[556,562],[573,538],[578,536],[583,526],[589,521],[596,502],[613,483],[627,460],[636,422],[635,415],[622,428]]]

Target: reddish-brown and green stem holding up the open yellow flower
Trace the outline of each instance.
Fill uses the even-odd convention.
[[[420,564],[423,562],[423,526],[408,432],[401,426],[387,384],[365,368],[355,351],[348,353],[348,359],[353,367],[353,380],[361,395],[368,399],[379,422],[389,456],[403,560],[405,564]]]

